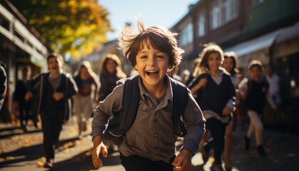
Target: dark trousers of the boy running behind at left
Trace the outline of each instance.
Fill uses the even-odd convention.
[[[55,145],[58,142],[62,129],[63,112],[43,111],[41,112],[41,124],[43,130],[43,149],[46,159],[54,158]]]

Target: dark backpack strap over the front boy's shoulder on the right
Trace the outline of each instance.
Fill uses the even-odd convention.
[[[188,90],[184,84],[169,78],[172,83],[173,94],[173,115],[174,133],[179,137],[184,137],[187,134],[187,129],[182,120],[182,114],[188,103]]]

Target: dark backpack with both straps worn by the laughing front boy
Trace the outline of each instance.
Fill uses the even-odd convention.
[[[139,76],[132,76],[120,80],[124,83],[124,93],[122,95],[123,110],[118,113],[112,113],[106,125],[103,138],[112,140],[115,145],[120,145],[126,131],[129,130],[135,121],[140,101],[140,88],[138,83]],[[188,91],[184,84],[169,78],[172,83],[173,93],[173,115],[174,133],[179,137],[187,134],[184,122],[182,121],[182,113],[188,102]]]

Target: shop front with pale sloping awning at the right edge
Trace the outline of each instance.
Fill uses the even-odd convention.
[[[271,66],[280,77],[282,104],[278,116],[274,116],[273,110],[265,110],[263,122],[292,132],[299,130],[299,23],[224,50],[236,53],[238,66],[245,77],[249,76],[248,64],[252,60]]]

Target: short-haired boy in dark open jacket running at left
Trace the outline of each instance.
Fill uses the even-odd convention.
[[[25,99],[33,97],[33,88],[38,90],[38,110],[41,114],[43,149],[46,155],[44,167],[54,165],[54,150],[61,133],[62,125],[70,115],[70,98],[78,88],[69,73],[63,71],[63,57],[50,53],[47,58],[49,71],[38,74],[31,83]]]

